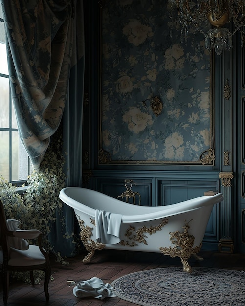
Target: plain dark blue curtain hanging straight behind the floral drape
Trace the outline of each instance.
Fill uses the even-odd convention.
[[[62,117],[63,148],[65,156],[64,173],[66,186],[82,187],[82,124],[83,124],[83,94],[84,94],[84,24],[83,1],[75,2],[75,29],[71,70],[67,100]],[[67,239],[63,235],[75,233],[79,238],[80,228],[73,208],[63,204],[62,214],[66,223],[60,221],[60,212],[56,212],[56,222],[52,225],[50,240],[56,251],[62,256],[77,254],[77,243],[73,238]]]

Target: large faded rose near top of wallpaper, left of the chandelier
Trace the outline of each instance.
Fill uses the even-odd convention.
[[[142,24],[139,20],[133,19],[123,28],[123,34],[128,37],[128,41],[135,46],[144,43],[148,37],[152,37],[152,28]]]

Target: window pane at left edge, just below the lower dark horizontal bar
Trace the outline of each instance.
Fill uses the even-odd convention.
[[[9,180],[9,132],[0,131],[0,174]]]

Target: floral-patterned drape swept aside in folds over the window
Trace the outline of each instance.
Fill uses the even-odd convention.
[[[38,170],[65,107],[75,1],[1,2],[18,131]]]

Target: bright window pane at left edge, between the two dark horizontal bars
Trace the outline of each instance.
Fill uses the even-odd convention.
[[[9,81],[0,77],[0,127],[9,128]]]

